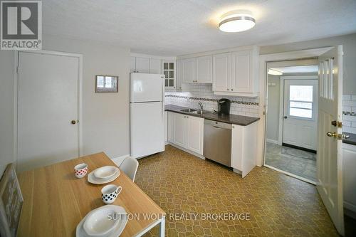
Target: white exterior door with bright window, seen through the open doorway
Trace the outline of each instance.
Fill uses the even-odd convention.
[[[317,149],[318,80],[284,80],[283,143]]]

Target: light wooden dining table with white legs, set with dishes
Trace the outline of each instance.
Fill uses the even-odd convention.
[[[88,173],[115,165],[100,152],[19,174],[24,201],[17,236],[75,236],[85,215],[105,205],[100,190],[106,184],[90,184],[88,174],[82,179],[74,176],[74,167],[80,163],[88,164]],[[157,225],[159,236],[164,236],[164,211],[137,184],[122,171],[110,184],[122,186],[113,205],[122,206],[128,214],[120,236],[142,236]]]

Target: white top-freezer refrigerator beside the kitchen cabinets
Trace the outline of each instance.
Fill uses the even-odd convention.
[[[164,151],[164,75],[130,74],[131,157]]]

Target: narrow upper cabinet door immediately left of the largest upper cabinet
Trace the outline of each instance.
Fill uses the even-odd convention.
[[[213,70],[211,56],[202,56],[197,58],[197,83],[212,83]]]

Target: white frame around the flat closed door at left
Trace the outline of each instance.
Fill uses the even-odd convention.
[[[82,103],[83,103],[83,55],[80,53],[66,53],[59,51],[46,51],[46,50],[36,50],[36,51],[16,51],[15,62],[14,62],[14,161],[18,163],[18,98],[19,98],[19,53],[40,53],[40,54],[49,54],[55,56],[67,56],[78,58],[78,153],[79,157],[83,156],[83,114],[82,114]]]

